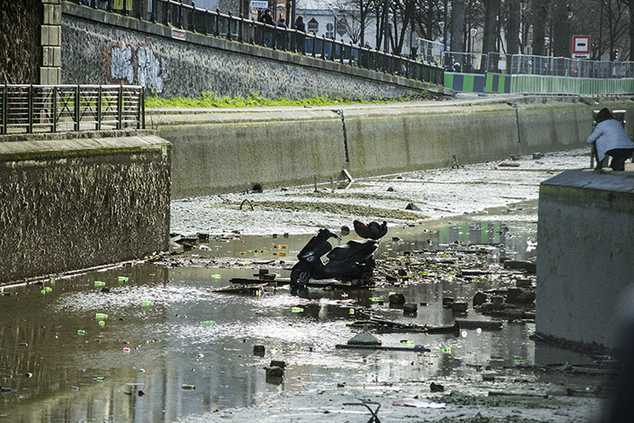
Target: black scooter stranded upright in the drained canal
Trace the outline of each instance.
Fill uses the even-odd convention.
[[[299,262],[291,271],[291,287],[305,286],[311,279],[337,279],[353,286],[370,284],[375,265],[372,255],[379,247],[378,239],[387,234],[388,225],[386,222],[364,225],[355,220],[354,230],[362,238],[370,239],[348,241],[333,249],[328,240],[337,238],[341,241],[341,238],[328,229],[320,229],[297,255]],[[326,263],[323,263],[322,255],[328,257]]]

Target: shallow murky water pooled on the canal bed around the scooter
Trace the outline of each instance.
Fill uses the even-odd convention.
[[[442,251],[456,241],[493,245],[491,262],[500,254],[528,258],[535,254],[535,226],[463,220],[390,228],[377,258]],[[5,288],[0,296],[0,414],[24,422],[171,421],[246,407],[276,391],[352,382],[440,379],[468,391],[465,380],[481,381],[483,369],[498,371],[501,381],[513,380],[521,365],[539,361],[540,355],[553,357],[550,350],[540,354],[542,347],[529,341],[530,322],[504,322],[497,332],[377,335],[383,345],[425,345],[431,350],[425,354],[335,349],[358,332],[348,323],[370,317],[451,325],[456,316],[442,307],[443,296],[470,301],[476,291],[492,287],[485,282],[312,289],[306,298],[291,296],[284,287],[261,295],[213,292],[231,278],[256,277],[254,267],[262,264],[254,266],[247,257],[271,261],[271,273],[288,277],[289,262],[309,238],[212,239],[195,245],[182,264],[187,257],[206,255],[230,260],[200,267],[126,265]],[[280,252],[286,255],[276,255]],[[425,305],[405,316],[389,306],[390,292]],[[471,309],[460,317],[490,319]],[[264,345],[264,357],[254,354],[255,345]],[[283,380],[267,380],[264,368],[272,360],[286,362]],[[566,361],[575,360],[582,358],[567,353]]]

